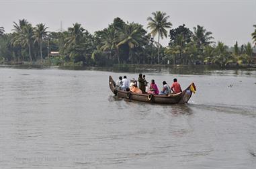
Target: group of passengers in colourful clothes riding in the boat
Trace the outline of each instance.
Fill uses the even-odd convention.
[[[129,82],[127,79],[127,76],[120,76],[118,80],[116,80],[116,89],[123,90],[123,91],[131,91],[132,93],[148,93],[152,95],[169,95],[171,93],[180,93],[181,85],[179,82],[177,82],[177,78],[173,79],[173,84],[171,84],[171,87],[169,84],[167,84],[166,81],[163,81],[163,89],[159,91],[157,84],[155,83],[155,80],[151,80],[151,84],[149,86],[149,89],[146,90],[146,87],[148,86],[148,82],[146,81],[146,76],[140,73],[138,74],[138,80],[135,78],[132,78]]]

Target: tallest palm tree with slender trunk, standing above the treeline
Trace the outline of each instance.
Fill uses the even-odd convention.
[[[169,16],[166,16],[165,12],[161,12],[161,11],[156,11],[152,13],[153,18],[152,17],[148,17],[147,20],[148,22],[148,27],[151,29],[151,34],[153,37],[155,37],[158,34],[158,44],[160,41],[160,37],[161,39],[163,39],[164,37],[167,38],[167,30],[165,30],[166,28],[171,28],[171,22],[167,21],[167,19],[169,19]],[[159,45],[158,45],[158,51],[157,51],[157,55],[158,55],[158,64],[160,64],[160,58],[159,58]]]

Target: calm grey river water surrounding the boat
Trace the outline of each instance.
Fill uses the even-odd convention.
[[[0,168],[256,168],[256,71],[146,72],[185,105],[114,97],[138,72],[0,67]]]

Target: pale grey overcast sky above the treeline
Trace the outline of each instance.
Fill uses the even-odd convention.
[[[202,25],[216,42],[233,46],[252,42],[256,24],[256,0],[0,0],[0,26],[11,32],[13,21],[27,19],[32,25],[45,23],[50,31],[67,30],[78,22],[93,34],[115,17],[146,25],[153,11],[165,11],[173,28],[185,23],[190,30]],[[148,30],[149,31],[149,30]],[[164,46],[168,40],[161,40]]]

